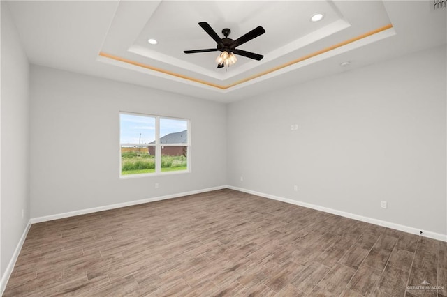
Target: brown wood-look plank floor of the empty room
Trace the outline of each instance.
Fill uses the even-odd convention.
[[[447,243],[219,190],[33,224],[4,296],[447,296]]]

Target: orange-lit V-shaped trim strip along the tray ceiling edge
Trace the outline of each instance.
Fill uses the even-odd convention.
[[[381,26],[381,27],[379,27],[377,29],[374,29],[372,31],[368,31],[368,32],[363,33],[363,34],[361,34],[359,36],[350,38],[348,40],[344,40],[344,41],[342,41],[340,43],[336,43],[335,45],[331,45],[329,47],[325,47],[322,50],[318,50],[316,52],[312,52],[311,54],[307,54],[305,56],[301,56],[298,59],[294,59],[294,60],[289,61],[287,63],[284,63],[284,64],[281,64],[279,66],[276,66],[274,68],[270,68],[268,70],[262,71],[261,73],[257,73],[255,75],[251,75],[249,77],[245,77],[243,79],[238,80],[237,82],[233,82],[232,84],[228,84],[228,85],[214,84],[212,82],[207,82],[207,81],[205,81],[203,79],[196,79],[194,77],[189,77],[187,75],[182,75],[182,74],[179,74],[179,73],[175,73],[173,71],[166,70],[166,69],[163,69],[163,68],[150,66],[150,65],[145,64],[145,63],[132,61],[130,59],[122,58],[120,56],[115,56],[113,54],[108,54],[108,53],[105,53],[105,52],[99,52],[98,56],[102,56],[104,58],[112,59],[112,60],[115,60],[115,61],[120,61],[120,62],[123,62],[123,63],[128,63],[128,64],[131,64],[133,66],[138,66],[138,67],[145,68],[145,69],[148,69],[148,70],[154,70],[154,71],[159,72],[159,73],[164,73],[166,75],[171,75],[173,77],[179,77],[179,78],[182,78],[182,79],[189,80],[191,82],[196,82],[198,84],[204,84],[204,85],[207,85],[207,86],[212,86],[212,87],[217,88],[217,89],[226,90],[226,89],[232,88],[233,86],[237,86],[239,84],[243,84],[245,82],[249,82],[250,80],[256,79],[256,78],[261,77],[263,75],[268,75],[269,73],[273,73],[273,72],[275,72],[277,70],[280,70],[282,68],[286,68],[286,67],[291,66],[291,65],[293,65],[295,63],[300,63],[300,62],[305,61],[307,59],[313,58],[314,56],[318,56],[320,54],[324,54],[325,52],[329,52],[331,50],[335,50],[335,49],[337,49],[339,47],[342,47],[344,45],[348,45],[349,43],[354,43],[354,42],[356,42],[358,40],[361,40],[363,38],[367,38],[367,37],[372,36],[372,35],[374,35],[376,33],[380,33],[382,31],[386,31],[386,30],[391,29],[391,28],[393,28],[393,24],[387,24],[385,26]]]

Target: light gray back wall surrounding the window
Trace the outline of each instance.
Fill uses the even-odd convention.
[[[192,172],[120,179],[120,111],[190,119]],[[225,105],[108,79],[31,66],[31,144],[32,218],[226,185]]]

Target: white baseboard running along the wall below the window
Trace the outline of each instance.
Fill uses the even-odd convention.
[[[194,194],[200,194],[203,192],[210,192],[210,191],[221,190],[221,189],[226,189],[226,188],[227,188],[226,185],[221,185],[219,187],[214,187],[214,188],[206,188],[206,189],[194,190],[194,191],[190,191],[190,192],[182,192],[182,193],[177,193],[177,194],[172,194],[172,195],[165,195],[165,196],[159,196],[159,197],[117,203],[117,204],[110,204],[110,205],[98,206],[98,207],[94,207],[94,208],[86,208],[86,209],[81,209],[80,211],[70,211],[68,213],[58,213],[56,215],[45,215],[43,217],[31,218],[31,224],[74,217],[75,215],[85,215],[87,213],[96,213],[98,211],[108,211],[110,209],[121,208],[121,207],[126,207],[126,206],[133,206],[133,205],[138,205],[138,204],[145,204],[148,202],[173,199],[173,198],[194,195]]]

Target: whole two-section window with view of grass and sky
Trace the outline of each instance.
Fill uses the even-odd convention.
[[[119,114],[121,176],[189,172],[189,120]]]

